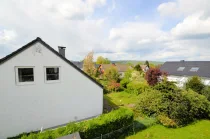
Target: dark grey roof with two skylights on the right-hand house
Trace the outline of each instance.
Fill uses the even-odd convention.
[[[210,61],[165,62],[160,70],[174,76],[200,76],[210,78]]]

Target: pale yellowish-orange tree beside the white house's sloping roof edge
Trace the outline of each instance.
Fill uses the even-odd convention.
[[[96,71],[93,63],[93,54],[93,51],[89,52],[83,61],[83,70],[90,76],[94,76]]]

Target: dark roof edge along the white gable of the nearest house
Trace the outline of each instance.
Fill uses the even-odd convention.
[[[75,68],[77,71],[79,71],[81,74],[83,74],[85,77],[87,77],[88,79],[90,79],[91,81],[93,81],[95,84],[97,84],[99,87],[103,88],[103,86],[98,83],[97,81],[95,81],[92,77],[90,77],[89,75],[87,75],[84,71],[82,71],[81,69],[79,69],[77,66],[75,66],[71,61],[69,61],[68,59],[66,59],[65,57],[63,57],[62,55],[60,55],[56,50],[54,50],[51,46],[49,46],[47,43],[45,43],[41,38],[37,37],[35,40],[29,42],[28,44],[24,45],[23,47],[19,48],[18,50],[14,51],[13,53],[5,56],[4,58],[0,59],[0,66],[7,62],[8,60],[10,60],[11,58],[15,57],[16,55],[18,55],[19,53],[23,52],[24,50],[26,50],[27,48],[29,48],[30,46],[32,46],[35,43],[41,43],[42,45],[44,45],[46,48],[48,48],[50,51],[52,51],[55,55],[57,55],[58,57],[60,57],[61,59],[63,59],[64,61],[66,61],[69,65],[71,65],[73,68]]]

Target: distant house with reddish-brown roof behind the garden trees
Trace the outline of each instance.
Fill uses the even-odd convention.
[[[99,70],[100,73],[103,74],[106,69],[109,69],[112,66],[115,66],[117,68],[117,70],[120,73],[121,77],[123,77],[125,72],[130,68],[130,66],[127,65],[127,64],[118,64],[118,63],[115,64],[115,63],[112,63],[112,64],[101,64],[101,65],[99,65],[98,70]]]

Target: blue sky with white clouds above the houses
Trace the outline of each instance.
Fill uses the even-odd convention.
[[[1,0],[0,21],[0,58],[41,37],[71,60],[210,60],[209,0]]]

